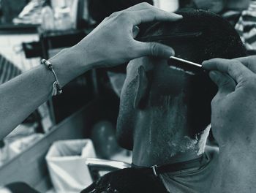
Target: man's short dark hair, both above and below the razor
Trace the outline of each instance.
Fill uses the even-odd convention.
[[[246,56],[238,33],[224,18],[203,10],[181,10],[178,14],[184,18],[174,23],[154,23],[139,38],[169,45],[177,56],[199,64],[211,58]],[[193,128],[189,135],[196,137],[211,122],[211,99],[217,86],[206,73],[195,75],[191,85],[192,94],[185,97],[185,102],[189,105],[188,121]]]

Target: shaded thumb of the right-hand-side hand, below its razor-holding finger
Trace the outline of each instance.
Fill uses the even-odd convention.
[[[235,81],[229,77],[228,75],[224,75],[222,72],[211,71],[209,76],[214,83],[217,84],[219,88],[219,93],[221,94],[229,94],[230,92],[235,91],[236,83]]]

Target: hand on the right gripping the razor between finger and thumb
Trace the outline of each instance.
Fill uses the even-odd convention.
[[[256,56],[216,58],[203,62],[203,68],[211,70],[219,87],[211,102],[211,126],[220,149],[248,149],[256,139]]]

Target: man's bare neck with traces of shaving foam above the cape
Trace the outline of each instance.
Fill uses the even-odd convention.
[[[198,140],[187,135],[187,108],[178,104],[168,104],[170,111],[155,108],[138,113],[132,159],[134,164],[162,165],[200,156]]]

